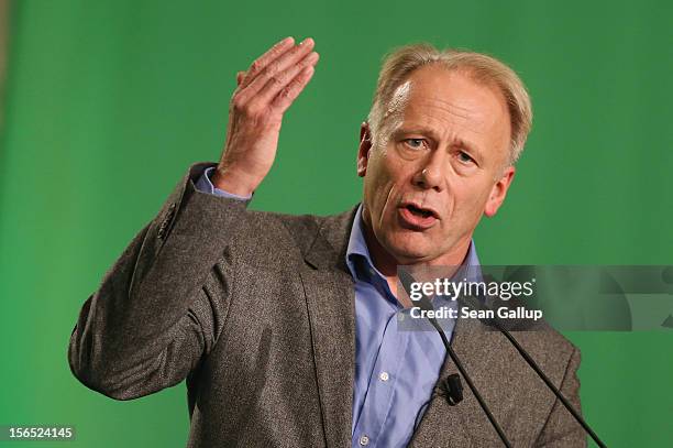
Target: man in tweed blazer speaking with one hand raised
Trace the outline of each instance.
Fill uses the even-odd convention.
[[[117,400],[187,379],[190,447],[500,446],[437,332],[398,331],[397,266],[478,264],[531,123],[528,95],[476,53],[399,48],[360,130],[362,205],[329,217],[246,209],[313,41],[286,39],[238,75],[219,164],[196,164],[85,303],[68,359]],[[437,297],[440,299],[440,297]],[[580,425],[501,335],[459,319],[451,345],[514,446],[584,446]],[[580,352],[553,331],[520,343],[578,406]]]

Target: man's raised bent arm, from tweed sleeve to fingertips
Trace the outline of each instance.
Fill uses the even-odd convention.
[[[210,183],[209,166],[192,166],[84,304],[68,347],[82,383],[135,398],[179,383],[208,356],[230,302],[233,241],[246,219],[241,199],[271,170],[283,116],[318,62],[312,47],[310,39],[283,40],[238,75],[211,190],[195,186]]]

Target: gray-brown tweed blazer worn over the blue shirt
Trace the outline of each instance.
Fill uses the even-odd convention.
[[[192,165],[84,304],[68,362],[88,387],[132,400],[187,380],[189,447],[349,447],[355,208],[289,216],[198,192]],[[515,447],[584,447],[582,428],[506,339],[476,320],[452,347]],[[580,352],[554,331],[517,332],[580,406]],[[441,378],[456,372],[446,358]],[[431,402],[410,446],[498,447],[465,387]],[[413,412],[413,409],[409,409]]]

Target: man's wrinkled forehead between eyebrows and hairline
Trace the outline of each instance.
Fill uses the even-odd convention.
[[[406,98],[400,100],[402,94]],[[389,106],[400,112],[402,130],[426,128],[437,138],[470,140],[484,151],[509,147],[505,96],[496,86],[476,81],[464,70],[439,65],[418,68],[396,89]]]

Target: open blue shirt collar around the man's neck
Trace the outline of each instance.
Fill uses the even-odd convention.
[[[355,212],[355,219],[353,220],[353,227],[351,229],[351,236],[349,238],[349,247],[346,249],[346,265],[351,271],[351,275],[354,280],[368,278],[371,275],[378,275],[384,278],[383,274],[378,272],[369,255],[369,249],[367,248],[366,240],[364,238],[364,221],[362,219],[362,204],[357,207]],[[363,262],[358,262],[362,260]],[[476,253],[474,245],[474,239],[470,240],[470,248],[467,254],[463,260],[461,266],[468,270],[468,272],[478,275],[479,259]],[[472,276],[472,275],[471,275]]]

